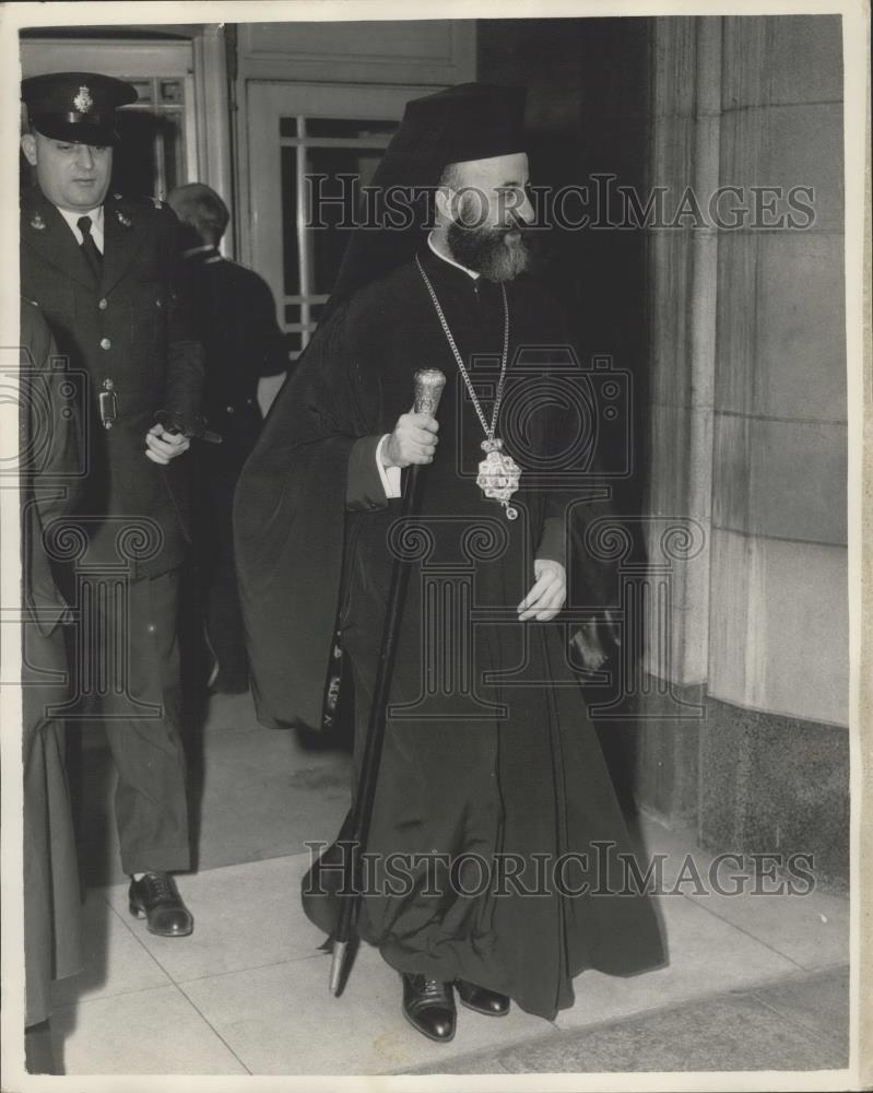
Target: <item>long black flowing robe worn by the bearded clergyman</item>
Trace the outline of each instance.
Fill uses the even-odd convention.
[[[500,289],[428,250],[420,258],[489,419]],[[335,625],[354,678],[356,771],[392,557],[411,566],[358,932],[399,971],[465,978],[551,1018],[573,1003],[583,968],[633,974],[663,953],[648,903],[605,894],[621,870],[595,868],[594,844],[612,844],[615,863],[627,836],[567,665],[568,627],[517,616],[534,560],[565,560],[586,506],[562,474],[574,445],[557,397],[561,316],[527,277],[506,292],[497,432],[523,468],[516,520],[476,485],[483,430],[411,262],[317,332],[244,471],[237,551],[261,720],[317,722]],[[375,451],[422,367],[447,384],[420,513],[403,526]],[[306,906],[329,927],[318,901]]]

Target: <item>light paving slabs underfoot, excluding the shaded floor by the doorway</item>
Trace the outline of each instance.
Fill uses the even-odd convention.
[[[658,847],[651,847],[657,849]],[[704,862],[701,862],[703,867]],[[365,947],[339,999],[299,909],[307,855],[185,879],[197,929],[148,933],[126,885],[86,904],[90,964],[58,985],[68,1073],[385,1074],[817,1069],[846,1062],[848,904],[839,896],[659,898],[670,965],[586,972],[554,1022],[459,1012],[449,1045],[400,1012],[399,977]],[[707,902],[710,901],[710,902]],[[332,1032],[340,1035],[331,1035]]]

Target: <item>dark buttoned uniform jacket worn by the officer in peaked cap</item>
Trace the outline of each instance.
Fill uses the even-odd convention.
[[[87,561],[118,562],[125,517],[148,521],[149,540],[127,560],[137,576],[173,568],[188,538],[189,459],[163,468],[145,456],[158,411],[185,428],[199,413],[203,352],[179,292],[178,223],[151,199],[107,196],[99,283],[63,218],[38,187],[24,193],[21,292],[42,310],[69,367],[83,373],[80,412],[87,473],[78,515]],[[99,393],[117,416],[101,423]]]

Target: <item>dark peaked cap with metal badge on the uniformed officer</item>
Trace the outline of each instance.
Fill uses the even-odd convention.
[[[44,137],[78,144],[115,144],[115,111],[137,102],[135,89],[97,72],[49,72],[22,81],[31,125]]]

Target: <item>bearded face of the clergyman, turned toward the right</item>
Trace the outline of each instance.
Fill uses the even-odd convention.
[[[449,176],[453,202],[446,237],[453,258],[492,281],[511,280],[530,261],[527,155],[457,163]]]

